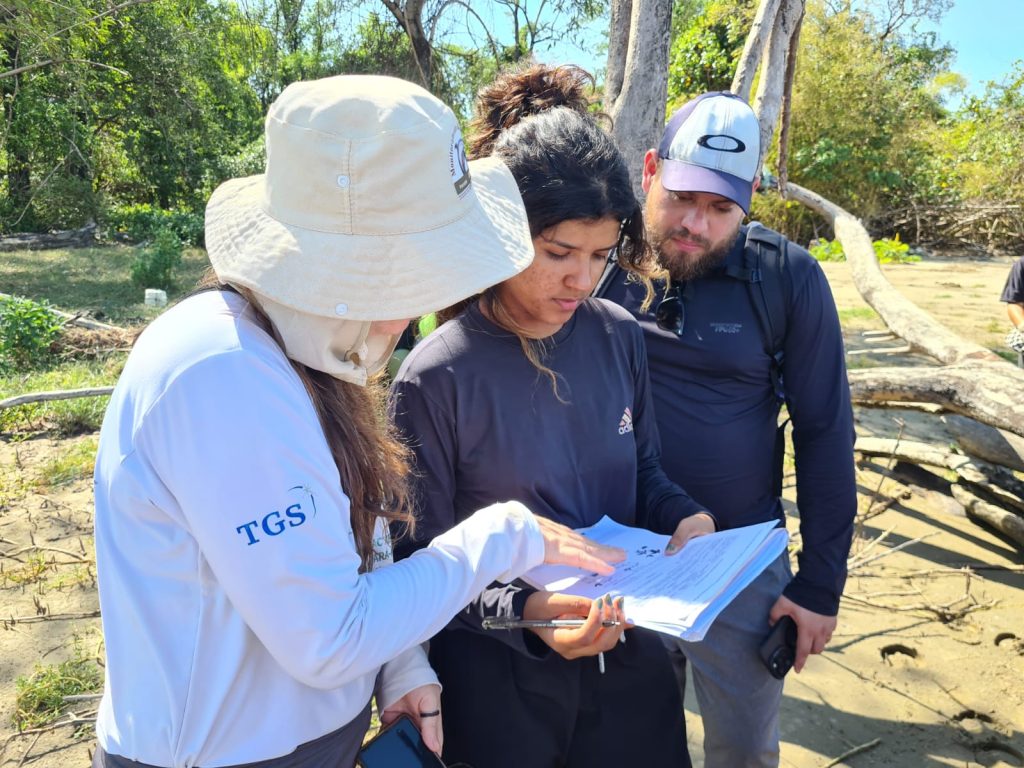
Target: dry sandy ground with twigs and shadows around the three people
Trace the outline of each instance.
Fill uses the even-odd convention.
[[[997,346],[1006,329],[997,299],[1009,265],[946,259],[884,271],[946,325]],[[864,311],[845,264],[825,269],[849,349],[898,343],[863,335],[881,329],[881,322]],[[914,361],[874,352],[850,360]],[[904,419],[904,436],[947,439],[937,417],[910,412],[859,412],[858,430],[895,437],[897,417]],[[10,717],[14,680],[35,665],[76,652],[101,656],[90,483],[45,492],[36,485],[46,462],[93,439],[0,439],[0,768],[89,763],[88,729],[59,725],[16,735]],[[968,520],[941,473],[876,460],[858,466],[858,483],[863,519],[840,627],[825,653],[788,678],[781,764],[1024,766],[1022,553]],[[790,528],[797,529],[796,520]],[[45,560],[34,566],[39,554]],[[82,717],[93,710],[88,701],[71,708]],[[694,764],[700,765],[702,731],[692,695],[687,720]],[[857,748],[862,751],[831,762]]]

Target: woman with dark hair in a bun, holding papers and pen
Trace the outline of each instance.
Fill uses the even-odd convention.
[[[609,256],[651,271],[640,206],[571,67],[507,73],[477,101],[470,155],[500,158],[522,195],[535,259],[440,313],[392,386],[416,455],[409,554],[473,509],[514,499],[571,527],[603,515],[673,535],[714,518],[662,472],[643,337],[590,298]],[[474,768],[689,765],[682,702],[656,636],[628,606],[494,584],[431,641],[444,758]],[[577,617],[575,628],[486,632],[482,618]],[[617,626],[604,626],[602,620]],[[596,658],[595,658],[596,656]]]

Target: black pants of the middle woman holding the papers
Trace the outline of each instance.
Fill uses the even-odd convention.
[[[690,768],[676,678],[660,640],[543,660],[471,632],[430,641],[443,690],[444,762],[471,768]]]

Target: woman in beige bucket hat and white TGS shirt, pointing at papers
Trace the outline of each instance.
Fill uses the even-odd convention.
[[[145,330],[103,421],[94,766],[347,768],[375,693],[439,751],[419,643],[496,578],[622,556],[512,502],[388,564],[406,452],[365,385],[407,318],[529,263],[522,202],[391,78],[289,86],[266,142],[207,208],[217,285]]]

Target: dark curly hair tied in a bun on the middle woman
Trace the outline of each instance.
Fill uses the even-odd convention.
[[[477,94],[469,155],[494,155],[509,167],[535,238],[562,221],[620,221],[616,258],[646,285],[649,300],[656,266],[643,212],[622,153],[599,125],[610,120],[591,111],[593,88],[593,76],[579,67],[527,63],[502,73]],[[494,288],[438,312],[438,319],[456,316],[476,300],[519,337],[526,357],[551,379],[557,394],[557,378],[542,361],[543,344],[516,327]]]

